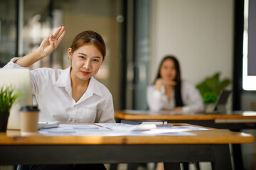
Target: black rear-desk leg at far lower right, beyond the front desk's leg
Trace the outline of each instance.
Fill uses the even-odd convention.
[[[234,158],[234,166],[235,170],[243,170],[243,162],[242,162],[242,149],[240,144],[233,144],[233,158]]]

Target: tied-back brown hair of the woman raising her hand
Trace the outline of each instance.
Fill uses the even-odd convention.
[[[72,49],[72,52],[74,52],[83,45],[95,45],[95,47],[102,53],[103,60],[105,59],[106,45],[100,34],[92,30],[85,30],[75,36],[70,48]]]

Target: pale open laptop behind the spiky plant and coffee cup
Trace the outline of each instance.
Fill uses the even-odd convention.
[[[21,91],[9,115],[8,130],[20,130],[19,110],[23,106],[32,106],[31,75],[29,69],[0,69],[0,86],[14,86],[15,91]]]

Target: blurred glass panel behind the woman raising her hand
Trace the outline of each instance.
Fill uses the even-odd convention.
[[[16,4],[18,2],[19,4]],[[2,0],[0,1],[0,66],[17,56],[16,30],[21,33],[21,55],[35,50],[47,35],[59,26],[65,26],[63,41],[50,57],[33,64],[30,69],[52,67],[65,69],[70,66],[68,47],[73,38],[83,30],[95,30],[105,39],[107,55],[95,78],[105,84],[119,108],[119,57],[121,45],[122,0]],[[23,16],[23,17],[22,17]]]

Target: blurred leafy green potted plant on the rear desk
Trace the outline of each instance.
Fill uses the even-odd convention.
[[[206,113],[213,111],[220,91],[225,89],[230,82],[230,79],[220,80],[220,72],[217,72],[212,77],[206,77],[206,79],[196,85],[196,88],[203,97],[203,103],[206,104]]]

